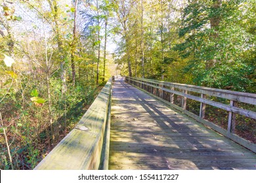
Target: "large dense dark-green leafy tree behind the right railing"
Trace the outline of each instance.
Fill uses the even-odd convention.
[[[241,1],[192,1],[184,8],[177,44],[194,84],[244,91],[251,67],[243,59],[250,35],[238,20]]]

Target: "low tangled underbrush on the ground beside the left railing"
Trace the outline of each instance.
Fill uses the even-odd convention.
[[[33,169],[79,122],[102,86],[67,84],[63,93],[61,80],[51,78],[49,104],[42,81],[23,77],[16,83],[1,88],[0,169]],[[33,101],[35,95],[44,101]]]

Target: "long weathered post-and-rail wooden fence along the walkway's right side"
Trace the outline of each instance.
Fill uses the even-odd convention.
[[[125,77],[125,81],[137,88],[144,90],[146,93],[156,97],[163,103],[184,112],[188,116],[194,118],[198,122],[201,122],[208,127],[211,127],[215,131],[221,133],[225,137],[228,137],[234,142],[249,148],[251,151],[256,152],[256,144],[253,144],[242,137],[234,134],[236,116],[234,114],[240,114],[246,116],[247,118],[256,119],[256,112],[251,110],[246,110],[244,108],[236,107],[236,103],[245,103],[249,105],[256,105],[256,94],[244,93],[244,92],[234,92],[230,90],[220,90],[215,88],[205,88],[200,86],[192,86],[188,84],[177,84],[171,82],[162,82],[158,80],[150,80],[145,78],[133,78]],[[163,95],[168,93],[168,99],[163,97]],[[199,96],[196,96],[197,93]],[[175,105],[174,94],[182,97],[181,107]],[[213,101],[209,99],[209,96],[218,97],[222,99],[227,99],[230,101],[230,105],[226,105],[221,102]],[[186,110],[187,99],[192,99],[194,101],[200,102],[199,115]],[[205,120],[205,105],[211,105],[213,107],[221,108],[228,111],[228,127],[223,129],[219,125],[215,125],[212,122]],[[217,114],[218,115],[218,114]]]

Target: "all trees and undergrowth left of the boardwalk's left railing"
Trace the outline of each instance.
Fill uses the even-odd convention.
[[[89,1],[0,1],[0,10],[0,169],[33,169],[110,78],[96,46],[109,28],[84,24]]]

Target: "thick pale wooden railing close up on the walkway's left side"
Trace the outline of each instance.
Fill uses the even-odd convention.
[[[70,133],[35,169],[108,169],[112,80]]]

